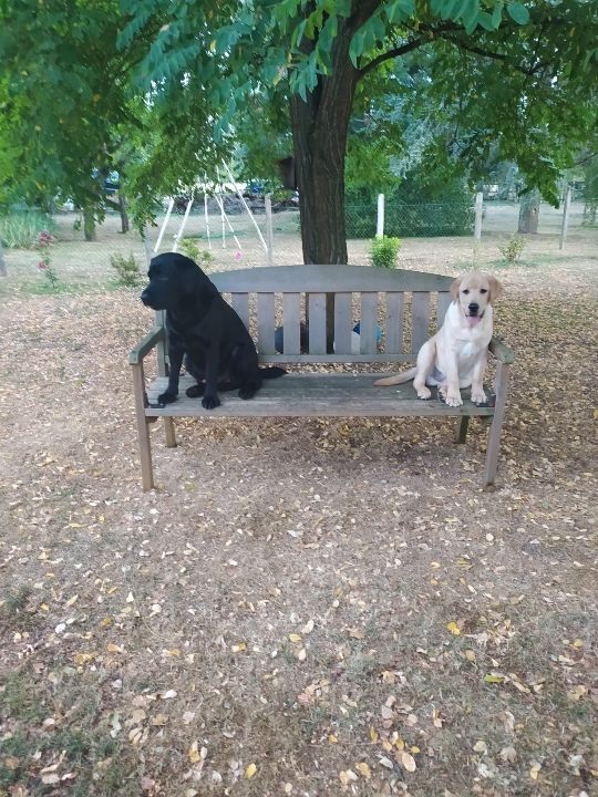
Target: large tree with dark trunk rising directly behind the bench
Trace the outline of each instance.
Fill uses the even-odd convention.
[[[227,130],[248,96],[280,92],[290,124],[306,262],[346,262],[344,158],[358,85],[409,53],[432,55],[435,102],[475,177],[492,143],[551,201],[571,151],[596,126],[591,1],[282,0],[165,6],[124,0],[123,42],[154,25],[138,64],[156,103],[188,86]]]

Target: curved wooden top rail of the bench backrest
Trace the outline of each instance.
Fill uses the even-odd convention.
[[[220,293],[336,293],[448,290],[452,277],[372,266],[265,266],[209,276]]]

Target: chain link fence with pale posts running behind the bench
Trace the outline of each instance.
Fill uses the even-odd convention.
[[[159,244],[158,251],[169,251],[178,240],[179,251],[197,252],[197,259],[207,270],[302,262],[299,210],[293,203],[272,203],[271,251],[268,251],[269,230],[264,201],[248,200],[251,214],[236,197],[225,197],[223,207],[210,200],[197,201],[184,226],[185,206],[175,209]],[[206,213],[207,210],[207,213]],[[223,213],[224,211],[224,213]],[[486,200],[483,206],[482,239],[503,240],[517,231],[519,206],[517,203]],[[377,205],[348,205],[346,208],[347,236],[352,262],[368,262],[368,245],[377,232]],[[41,255],[35,240],[41,229],[54,236],[50,247],[52,268],[61,286],[78,291],[86,288],[115,286],[117,275],[112,266],[115,258],[133,258],[143,279],[147,257],[151,256],[164,216],[147,230],[147,239],[132,230],[121,231],[121,218],[109,214],[96,229],[96,240],[85,241],[80,216],[75,213],[17,214],[0,217],[0,238],[3,242],[3,261],[8,278],[0,280],[0,293],[47,292],[44,272],[40,269]],[[587,213],[582,200],[570,206],[568,236],[594,235],[596,222]],[[563,210],[542,204],[538,234],[533,237],[536,247],[542,241],[560,235]],[[401,239],[472,237],[474,234],[474,203],[389,201],[384,214],[384,232]],[[530,237],[532,238],[532,237]],[[403,249],[406,246],[404,242]],[[190,253],[189,252],[189,253]],[[1,260],[1,257],[0,257]],[[1,265],[1,263],[0,263]]]

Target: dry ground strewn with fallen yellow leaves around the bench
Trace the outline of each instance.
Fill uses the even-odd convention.
[[[495,493],[481,422],[215,417],[143,494],[138,290],[4,291],[0,795],[595,793],[597,236],[496,244],[401,252],[505,283]]]

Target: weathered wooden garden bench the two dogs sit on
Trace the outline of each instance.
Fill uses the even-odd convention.
[[[401,363],[415,360],[420,346],[442,323],[451,303],[452,278],[417,271],[361,266],[280,266],[214,273],[210,279],[245,321],[256,341],[260,362],[293,366],[386,363],[384,373],[394,372],[402,368]],[[334,301],[333,353],[327,353],[327,294],[333,294]],[[307,335],[302,335],[307,315],[309,325]],[[353,334],[358,320],[359,338]],[[280,324],[283,324],[282,353],[276,348],[276,329]],[[307,341],[301,340],[306,337]],[[355,340],[359,352],[354,351]],[[154,348],[157,376],[146,385],[144,358]],[[496,358],[497,368],[495,395],[488,406],[473,404],[467,390],[462,391],[462,406],[448,407],[437,393],[430,401],[417,398],[411,382],[374,387],[373,380],[381,375],[378,372],[339,373],[338,369],[313,372],[311,369],[312,372],[290,372],[280,379],[265,380],[259,393],[249,401],[243,401],[236,392],[221,393],[221,405],[213,411],[204,410],[200,401],[185,395],[193,380],[183,376],[178,400],[158,407],[156,396],[166,387],[168,364],[164,318],[163,313],[156,313],[156,324],[128,356],[143,488],[154,487],[148,424],[156,418],[164,418],[166,446],[172,447],[176,445],[174,417],[217,421],[280,416],[455,416],[460,418],[458,443],[465,442],[470,418],[485,416],[492,423],[483,483],[489,486],[496,476],[508,366],[513,363],[513,352],[498,340],[492,340],[489,351]]]

